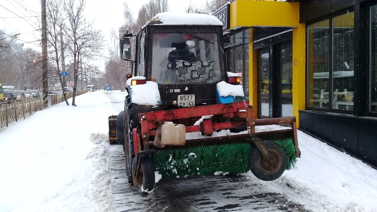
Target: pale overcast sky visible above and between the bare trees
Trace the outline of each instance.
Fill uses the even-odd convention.
[[[87,0],[86,14],[91,20],[94,20],[95,28],[101,29],[106,45],[110,41],[110,32],[112,29],[118,34],[118,28],[123,24],[123,3],[127,2],[133,12],[133,16],[137,17],[137,12],[141,5],[148,0]],[[190,5],[202,6],[204,0],[168,0],[169,10],[172,12],[184,12],[184,8]],[[8,35],[17,35],[21,43],[31,42],[41,39],[40,19],[41,3],[40,0],[1,0],[0,1],[0,29],[5,30]],[[20,17],[23,18],[20,18]],[[38,17],[25,17],[38,16]],[[16,17],[16,18],[14,18]],[[136,32],[134,32],[136,33]],[[22,40],[22,41],[21,41]],[[41,51],[40,41],[25,46]],[[107,51],[106,51],[107,52]],[[107,54],[104,52],[104,54]],[[101,68],[103,70],[103,67]]]

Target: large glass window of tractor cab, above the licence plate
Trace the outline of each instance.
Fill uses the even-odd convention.
[[[215,83],[221,79],[216,34],[153,34],[152,81],[189,84]]]

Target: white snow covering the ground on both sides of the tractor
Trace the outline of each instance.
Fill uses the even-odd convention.
[[[63,102],[2,129],[0,211],[114,211],[105,141],[108,117],[123,109],[125,95],[89,92],[77,107]],[[275,181],[248,173],[250,182],[314,212],[377,212],[375,169],[301,131],[298,140],[296,170]]]

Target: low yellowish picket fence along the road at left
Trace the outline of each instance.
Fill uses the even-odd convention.
[[[77,95],[85,94],[87,91],[77,91]],[[73,92],[67,93],[67,99],[73,96]],[[58,104],[64,101],[63,94],[52,95],[51,105]],[[0,128],[13,121],[25,119],[29,115],[34,114],[37,111],[41,111],[47,108],[46,103],[43,102],[43,98],[27,98],[20,101],[12,100],[6,101],[0,104]]]

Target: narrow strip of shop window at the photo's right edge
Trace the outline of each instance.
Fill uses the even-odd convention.
[[[377,5],[370,11],[369,112],[377,114]]]

